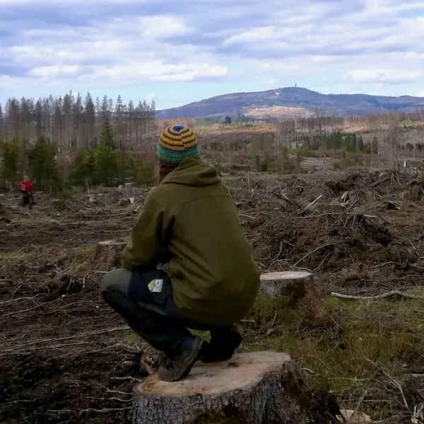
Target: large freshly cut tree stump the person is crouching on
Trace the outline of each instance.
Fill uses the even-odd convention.
[[[133,424],[306,424],[312,396],[286,353],[201,364],[181,382],[151,375],[133,392]],[[310,396],[311,395],[311,396]]]

